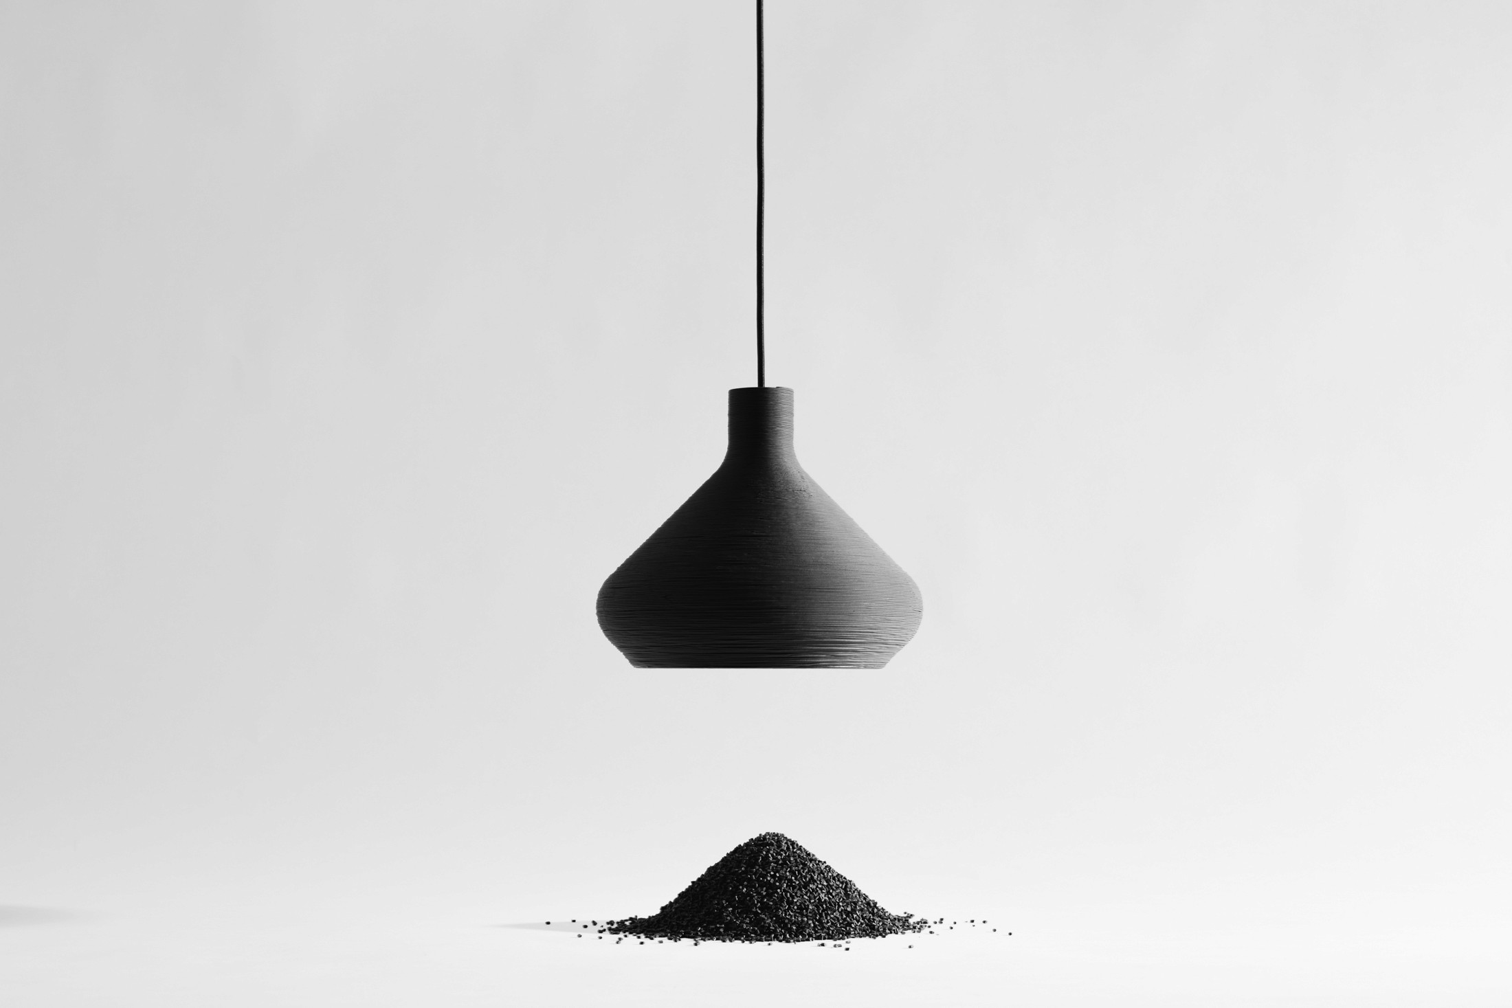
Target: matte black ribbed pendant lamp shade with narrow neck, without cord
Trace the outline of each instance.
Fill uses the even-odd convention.
[[[599,589],[640,668],[881,668],[922,600],[792,452],[792,390],[732,388],[724,464]]]

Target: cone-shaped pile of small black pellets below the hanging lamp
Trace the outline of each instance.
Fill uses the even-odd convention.
[[[891,914],[833,867],[780,833],[721,857],[652,917],[609,920],[609,934],[714,942],[880,938],[924,931]]]

